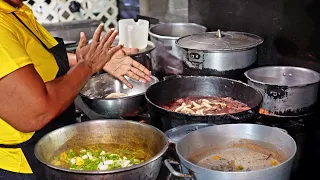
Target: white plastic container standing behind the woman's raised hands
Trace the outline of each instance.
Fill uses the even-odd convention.
[[[124,47],[144,49],[148,44],[149,21],[121,19],[119,24],[119,44]]]

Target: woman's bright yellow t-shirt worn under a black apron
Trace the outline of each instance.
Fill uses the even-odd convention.
[[[58,72],[53,55],[43,48],[39,40],[12,12],[15,12],[48,48],[58,44],[50,33],[37,23],[28,6],[23,5],[16,9],[0,0],[0,79],[23,66],[33,64],[44,82],[53,80]],[[25,142],[33,134],[19,132],[0,117],[0,144]],[[32,173],[21,149],[0,148],[0,169]]]

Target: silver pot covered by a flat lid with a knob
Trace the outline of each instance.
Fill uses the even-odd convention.
[[[263,39],[245,32],[206,32],[179,38],[178,47],[187,51],[185,75],[215,75],[245,79],[243,73],[254,66],[257,46]]]

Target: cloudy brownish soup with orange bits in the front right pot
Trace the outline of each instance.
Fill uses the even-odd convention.
[[[212,150],[196,164],[211,170],[235,172],[265,169],[284,161],[284,156],[280,155],[283,153],[275,153],[247,140],[239,142],[228,148]]]

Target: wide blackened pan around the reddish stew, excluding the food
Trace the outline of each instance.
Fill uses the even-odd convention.
[[[262,96],[253,87],[240,81],[215,76],[172,77],[151,85],[146,93],[152,121],[161,130],[193,123],[241,123],[257,116]],[[190,115],[168,111],[161,106],[185,97],[231,97],[247,104],[251,109],[234,114]]]

